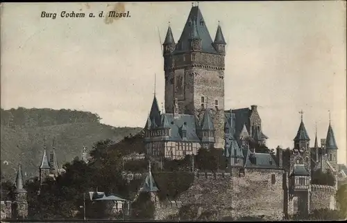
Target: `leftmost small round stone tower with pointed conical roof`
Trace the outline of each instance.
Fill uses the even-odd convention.
[[[19,165],[16,178],[15,199],[12,204],[12,218],[25,219],[28,217],[28,197],[24,189],[24,180],[22,174],[22,166]]]

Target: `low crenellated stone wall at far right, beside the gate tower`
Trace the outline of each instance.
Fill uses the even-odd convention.
[[[310,210],[330,208],[336,209],[336,190],[332,186],[312,185]]]

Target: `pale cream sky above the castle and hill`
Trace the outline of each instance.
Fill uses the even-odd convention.
[[[113,126],[144,127],[164,102],[160,42],[168,23],[178,41],[191,2],[3,3],[1,107],[78,109]],[[267,145],[292,147],[303,121],[314,143],[329,125],[346,163],[346,2],[199,3],[212,39],[226,38],[225,106],[258,105]],[[130,17],[99,18],[129,11]],[[56,19],[42,18],[56,12]],[[62,18],[93,12],[96,17]]]

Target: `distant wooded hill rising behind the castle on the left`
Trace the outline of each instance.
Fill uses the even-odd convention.
[[[22,163],[26,179],[38,175],[44,139],[48,152],[51,151],[53,139],[56,139],[56,155],[61,166],[75,157],[81,158],[83,146],[92,150],[92,145],[97,141],[111,139],[118,142],[142,130],[139,127],[104,125],[99,123],[99,116],[84,111],[19,110],[21,112],[1,109],[1,175],[5,179],[15,179],[19,163]],[[64,118],[60,118],[59,111],[63,111],[60,114],[64,114]],[[2,116],[4,113],[7,116]],[[10,119],[6,119],[8,116]],[[54,125],[56,123],[58,125]]]

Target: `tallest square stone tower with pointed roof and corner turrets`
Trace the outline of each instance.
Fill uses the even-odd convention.
[[[214,123],[214,148],[224,146],[224,57],[226,41],[221,26],[214,41],[198,6],[192,6],[177,43],[171,32],[163,44],[165,71],[165,111],[196,115],[199,125],[206,109]]]

